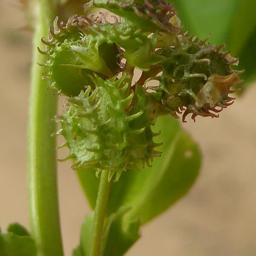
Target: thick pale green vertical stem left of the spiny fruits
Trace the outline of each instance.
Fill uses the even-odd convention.
[[[62,241],[58,211],[55,124],[51,121],[57,112],[57,97],[47,90],[49,82],[42,80],[46,71],[37,62],[46,56],[37,51],[44,49],[41,38],[47,36],[55,17],[52,0],[32,0],[34,20],[33,58],[29,99],[28,177],[30,225],[40,256],[62,256]]]

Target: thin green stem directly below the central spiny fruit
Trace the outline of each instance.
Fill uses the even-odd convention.
[[[108,181],[107,170],[102,170],[100,182],[99,182],[99,191],[96,201],[96,207],[94,211],[93,219],[93,232],[92,232],[92,244],[90,256],[99,256],[100,246],[102,241],[102,231],[105,221],[105,215],[108,206],[108,197],[111,186],[111,181]]]

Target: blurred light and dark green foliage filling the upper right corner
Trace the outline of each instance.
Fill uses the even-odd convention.
[[[242,90],[256,80],[256,1],[254,0],[168,0],[175,4],[184,30],[204,38],[212,34],[214,44],[227,43],[239,68],[246,72]]]

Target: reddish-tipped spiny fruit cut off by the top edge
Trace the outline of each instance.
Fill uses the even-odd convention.
[[[146,32],[177,32],[171,18],[176,15],[173,4],[164,0],[91,0],[85,9],[97,7],[124,17],[125,21]]]

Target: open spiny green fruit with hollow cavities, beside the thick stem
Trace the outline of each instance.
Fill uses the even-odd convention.
[[[67,96],[77,96],[85,85],[93,86],[88,75],[110,78],[122,70],[121,58],[142,70],[166,58],[154,52],[156,35],[142,33],[127,24],[115,23],[101,17],[73,15],[58,26],[58,17],[50,29],[48,40],[42,38],[48,56],[44,64],[49,72],[44,78],[52,80],[53,88]],[[123,51],[122,49],[125,51]]]

